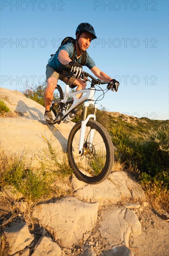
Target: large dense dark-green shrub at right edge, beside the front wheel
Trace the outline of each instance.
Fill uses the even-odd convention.
[[[115,154],[127,168],[138,169],[142,179],[159,182],[169,189],[169,125],[161,126],[150,135],[135,138],[122,126],[111,129]]]

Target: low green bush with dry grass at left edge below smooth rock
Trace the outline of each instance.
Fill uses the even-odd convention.
[[[5,161],[4,161],[5,160]],[[43,170],[25,168],[22,159],[4,159],[1,156],[0,185],[12,185],[28,201],[48,197],[51,194],[51,174]]]

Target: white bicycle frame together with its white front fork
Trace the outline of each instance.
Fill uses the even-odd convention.
[[[80,99],[77,99],[76,95],[81,94],[81,93],[83,95],[81,96]],[[69,92],[69,84],[66,84],[64,99],[61,100],[63,103],[66,103],[67,99],[68,99],[68,96],[71,96],[74,99],[73,104],[69,108],[69,110],[66,111],[66,110],[63,109],[63,117],[65,115],[67,116],[68,113],[70,113],[73,109],[75,109],[82,102],[84,102],[84,112],[83,112],[83,118],[82,118],[82,121],[81,121],[81,132],[80,132],[80,138],[79,138],[79,154],[82,153],[82,149],[83,149],[86,124],[87,124],[87,122],[90,118],[94,118],[94,120],[96,120],[95,112],[96,112],[96,109],[97,109],[97,103],[94,102],[94,93],[95,93],[95,88],[92,88],[92,87],[87,88],[87,89],[83,89],[83,90],[79,90],[79,91],[76,91],[76,92]],[[90,115],[88,115],[88,117],[86,117],[87,108],[90,104],[94,105],[94,114],[93,115],[90,114]],[[65,119],[63,119],[63,121],[64,120]],[[93,139],[94,139],[94,129],[91,129],[88,138],[89,138],[88,143],[89,143],[89,145],[91,145],[92,142],[93,142]]]

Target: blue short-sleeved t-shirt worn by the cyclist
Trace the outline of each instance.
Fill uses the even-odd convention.
[[[63,47],[61,47],[61,49],[59,50],[59,52],[61,50],[64,50],[66,51],[68,54],[69,54],[69,58],[72,57],[73,55],[73,52],[74,52],[74,47],[73,47],[73,44],[72,43],[68,43],[68,44],[65,44],[63,45]],[[53,55],[49,61],[48,61],[48,65],[50,67],[53,67],[55,68],[59,73],[62,73],[63,72],[63,67],[65,65],[63,65],[58,59],[58,54],[59,52],[55,55]],[[75,52],[75,59],[74,61],[75,62],[78,62],[78,63],[81,63],[81,59],[82,59],[82,55],[77,59],[77,52]],[[86,63],[85,63],[85,66],[87,66],[89,69],[91,69],[92,67],[96,66],[93,59],[88,55],[88,53],[86,52]]]

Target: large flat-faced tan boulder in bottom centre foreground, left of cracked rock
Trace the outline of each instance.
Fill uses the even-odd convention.
[[[32,216],[54,233],[59,244],[69,248],[78,243],[85,232],[93,229],[98,208],[99,203],[81,202],[74,197],[66,197],[55,203],[36,206]]]

